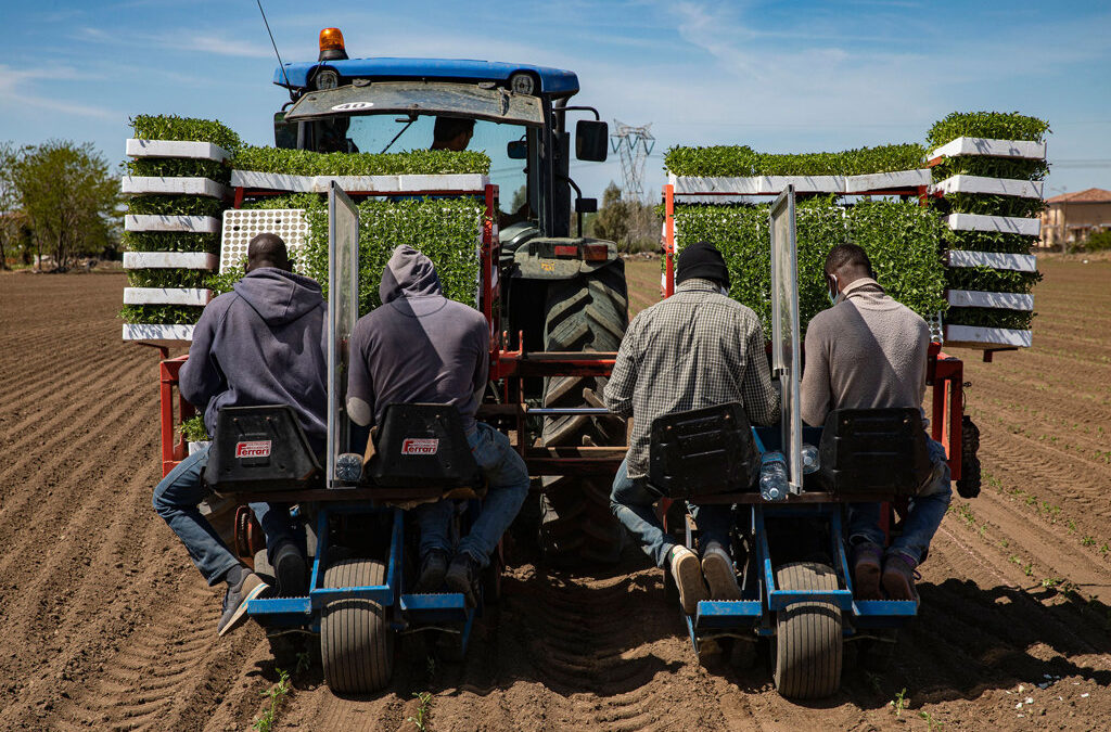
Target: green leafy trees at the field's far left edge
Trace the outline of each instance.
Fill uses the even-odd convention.
[[[120,203],[119,176],[91,142],[0,143],[0,269],[66,271],[80,257],[114,253]]]

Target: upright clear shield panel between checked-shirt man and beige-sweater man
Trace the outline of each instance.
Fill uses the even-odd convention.
[[[799,274],[794,187],[771,205],[771,353],[782,387],[780,425],[790,490],[802,492],[802,414],[799,402]]]

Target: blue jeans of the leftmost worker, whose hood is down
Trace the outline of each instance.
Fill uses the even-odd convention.
[[[179,462],[154,489],[153,504],[158,515],[166,520],[184,544],[189,559],[193,560],[193,564],[212,585],[240,562],[220,541],[216,529],[197,508],[208,493],[201,484],[201,472],[208,464],[208,453],[206,447]],[[269,551],[282,541],[296,541],[288,508],[251,503],[251,510],[262,524]]]

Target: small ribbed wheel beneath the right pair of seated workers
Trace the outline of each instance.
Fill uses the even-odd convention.
[[[819,562],[775,571],[781,590],[837,590],[837,572]],[[820,699],[841,684],[841,610],[832,602],[798,602],[775,616],[772,668],[775,688],[789,699]]]

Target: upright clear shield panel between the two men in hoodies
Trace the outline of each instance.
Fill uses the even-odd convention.
[[[359,319],[359,211],[333,181],[328,191],[328,487],[350,450],[348,342]]]

